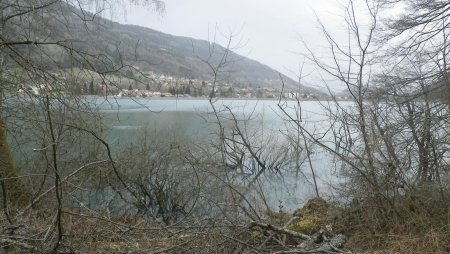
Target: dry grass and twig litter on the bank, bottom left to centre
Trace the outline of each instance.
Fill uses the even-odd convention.
[[[164,227],[125,217],[92,216],[79,210],[65,209],[61,253],[232,253],[251,248],[245,239],[250,234],[243,227],[195,222]],[[20,230],[1,234],[0,239],[15,243],[1,243],[0,252],[48,253],[56,239],[53,218],[54,210],[49,207],[27,213],[14,223],[21,225]],[[0,228],[7,227],[9,224],[2,214]]]

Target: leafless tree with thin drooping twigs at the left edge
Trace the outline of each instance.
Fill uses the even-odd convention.
[[[164,3],[158,0],[131,2],[154,6],[160,11],[164,9]],[[84,47],[87,42],[79,41],[74,32],[79,28],[77,26],[83,26],[84,32],[90,33],[99,25],[96,16],[106,5],[112,4],[95,0],[7,0],[0,3],[0,177],[3,209],[9,222],[15,223],[19,215],[54,191],[55,216],[44,237],[44,241],[53,241],[53,252],[58,251],[63,240],[63,205],[68,200],[65,191],[70,189],[69,183],[73,183],[74,178],[81,179],[78,174],[83,169],[101,164],[95,160],[96,156],[75,162],[75,155],[68,155],[75,150],[71,147],[75,146],[75,140],[81,141],[81,137],[88,134],[96,140],[94,143],[106,147],[109,156],[106,153],[101,155],[114,166],[99,129],[91,129],[86,122],[90,120],[88,117],[97,116],[96,109],[79,97],[79,90],[87,78],[92,80],[96,75],[106,83],[110,77],[108,74],[128,68],[128,65],[123,62],[112,64],[113,61],[102,52],[90,51]],[[92,5],[96,5],[97,13],[87,11]],[[74,69],[78,72],[76,75],[73,75]],[[29,176],[24,172],[18,173],[7,139],[14,132],[28,132],[26,136],[29,137],[32,137],[29,133],[41,134],[38,136],[41,140],[35,136],[31,143],[45,159],[41,164],[43,167],[38,170],[38,175],[43,176],[41,184],[37,184],[39,180],[31,180],[31,172]],[[87,155],[87,149],[79,155]],[[54,180],[53,184],[48,178]],[[22,181],[24,179],[28,180]],[[39,187],[34,189],[35,186]],[[44,188],[48,189],[43,191]],[[9,206],[9,202],[13,206]],[[11,207],[23,209],[13,217]]]

